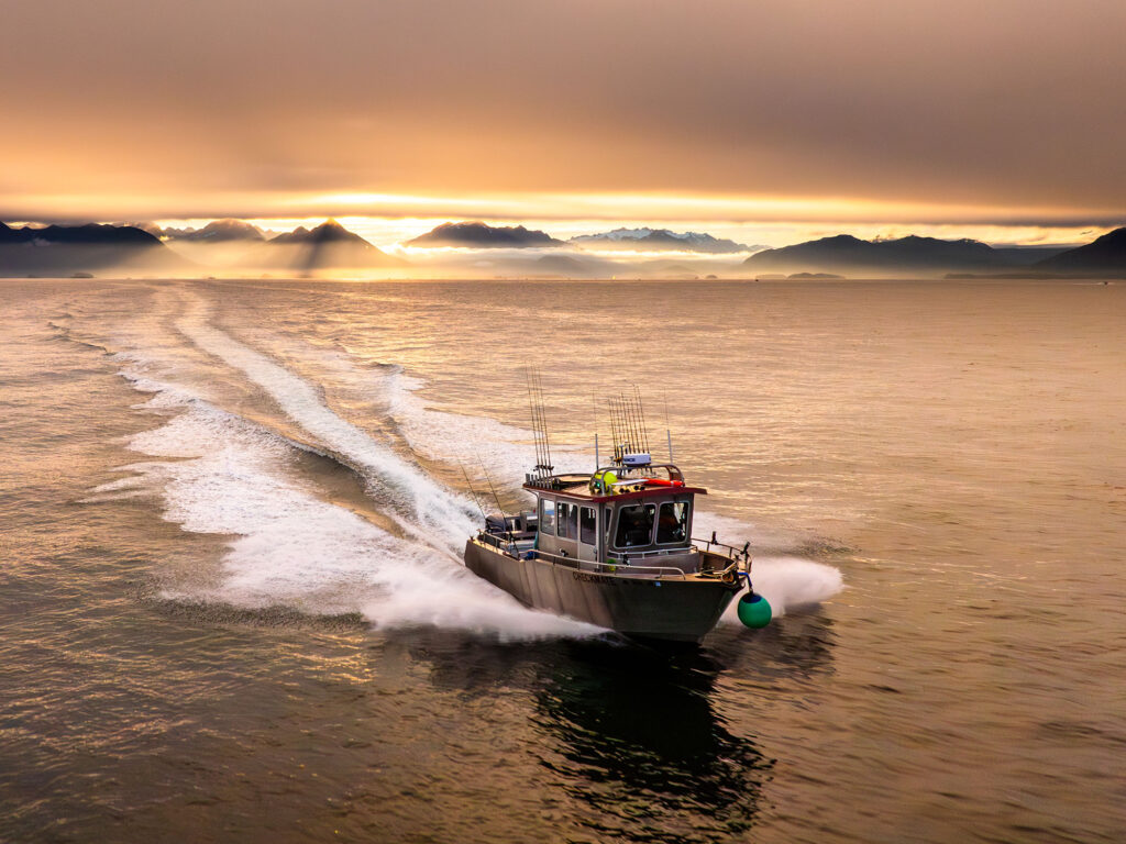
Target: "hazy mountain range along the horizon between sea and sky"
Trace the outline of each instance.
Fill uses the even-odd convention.
[[[148,231],[146,231],[148,230]],[[655,237],[654,237],[655,236]],[[626,258],[629,252],[660,249],[658,241],[674,241],[703,250],[699,258],[669,260]],[[581,246],[625,244],[622,259],[583,253]],[[854,278],[958,277],[1112,277],[1126,278],[1126,227],[1115,230],[1076,248],[1001,246],[974,240],[945,241],[910,235],[896,240],[865,241],[847,234],[767,249],[741,263],[721,264],[725,252],[708,249],[740,246],[699,233],[677,234],[668,230],[619,228],[600,235],[581,235],[564,243],[545,232],[524,226],[489,226],[484,223],[447,223],[408,242],[413,245],[497,248],[495,258],[477,260],[474,272],[508,277],[527,275],[575,278],[700,276],[720,272],[783,273],[797,278],[842,273]],[[641,248],[638,249],[638,245]],[[551,248],[538,255],[535,246]],[[558,251],[554,251],[557,248]],[[569,251],[565,249],[571,246]],[[501,248],[529,249],[528,258]],[[740,246],[741,248],[741,246]],[[453,254],[427,259],[431,270],[461,272],[464,261]],[[476,260],[476,259],[475,259]],[[199,230],[160,230],[138,225],[27,225],[0,223],[0,276],[169,275],[200,276],[209,269],[270,270],[306,273],[315,270],[392,269],[406,262],[388,255],[334,219],[313,228],[298,227],[272,239],[244,221],[218,219]]]

